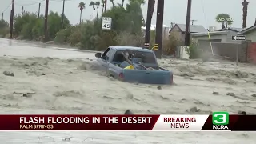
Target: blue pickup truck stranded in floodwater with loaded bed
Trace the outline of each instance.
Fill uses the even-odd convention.
[[[134,57],[125,57],[129,51]],[[138,82],[146,84],[173,83],[173,73],[158,66],[154,51],[134,46],[110,46],[106,51],[96,53],[98,58],[94,63],[98,70],[103,70],[110,77],[117,78],[123,82]],[[126,69],[130,62],[134,69]]]

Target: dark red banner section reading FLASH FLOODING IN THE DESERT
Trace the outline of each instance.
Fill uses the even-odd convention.
[[[0,115],[0,130],[152,130],[159,115]]]

